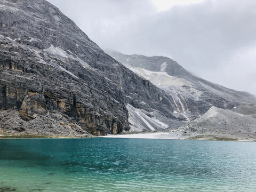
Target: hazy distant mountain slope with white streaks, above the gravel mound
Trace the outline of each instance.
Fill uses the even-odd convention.
[[[177,104],[175,111],[186,113],[192,119],[206,113],[211,106],[233,109],[239,104],[256,103],[254,95],[205,81],[170,58],[125,55],[109,49],[105,52],[169,93]]]

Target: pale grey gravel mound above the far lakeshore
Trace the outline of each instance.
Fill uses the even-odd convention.
[[[233,135],[239,138],[256,138],[256,112],[246,110],[245,106],[235,107],[232,110],[211,107],[204,115],[191,122],[197,131],[212,135]],[[247,108],[247,107],[246,107]],[[254,106],[255,109],[255,106]],[[235,112],[237,111],[237,112]],[[239,113],[238,113],[239,112]],[[229,136],[230,137],[230,136]]]

